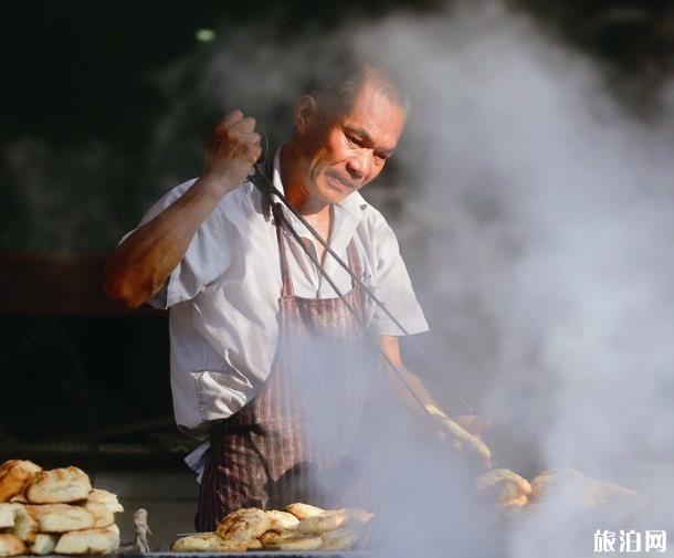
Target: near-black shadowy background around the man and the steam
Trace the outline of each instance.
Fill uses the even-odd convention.
[[[644,118],[655,113],[672,72],[671,2],[509,6],[598,60],[631,110]],[[166,316],[108,305],[99,277],[105,254],[158,193],[175,186],[157,177],[167,168],[182,178],[199,172],[200,143],[186,147],[185,138],[206,137],[219,106],[192,107],[179,137],[159,147],[156,139],[176,87],[189,87],[169,91],[162,76],[188,55],[197,76],[200,60],[215,48],[200,42],[197,30],[222,38],[268,22],[284,41],[354,19],[443,7],[433,0],[2,4],[0,435],[8,448],[40,441],[181,448],[172,424]],[[85,286],[63,294],[64,285],[81,282]]]

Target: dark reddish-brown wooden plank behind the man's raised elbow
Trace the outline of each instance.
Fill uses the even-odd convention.
[[[166,314],[147,305],[128,309],[103,291],[107,254],[0,252],[0,312],[45,315]]]

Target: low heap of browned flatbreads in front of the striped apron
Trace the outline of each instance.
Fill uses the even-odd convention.
[[[286,506],[285,512],[249,507],[225,516],[213,533],[179,538],[171,550],[350,550],[372,517],[364,509],[322,509],[301,503]]]

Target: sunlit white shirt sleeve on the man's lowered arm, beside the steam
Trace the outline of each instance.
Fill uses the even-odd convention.
[[[426,331],[429,325],[417,301],[410,275],[400,255],[398,239],[388,223],[385,222],[378,228],[376,240],[375,295],[400,322],[407,334]],[[406,331],[400,329],[376,303],[369,330],[375,335],[406,335]]]

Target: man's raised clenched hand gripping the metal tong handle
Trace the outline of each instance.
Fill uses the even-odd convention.
[[[229,113],[208,139],[202,178],[228,191],[236,188],[262,154],[260,139],[253,117]]]

